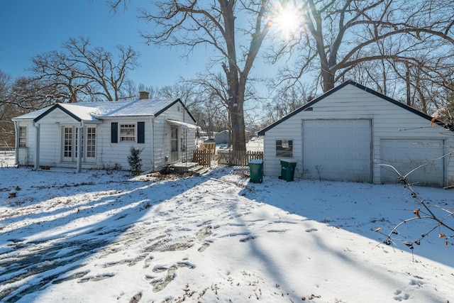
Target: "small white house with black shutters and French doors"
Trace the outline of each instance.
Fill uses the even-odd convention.
[[[55,104],[13,122],[16,164],[35,169],[128,170],[133,146],[142,149],[143,170],[161,170],[167,164],[192,160],[198,128],[180,99],[150,100],[148,96],[135,101]]]

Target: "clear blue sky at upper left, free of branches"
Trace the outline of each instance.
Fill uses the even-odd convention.
[[[150,25],[138,21],[136,8],[150,8],[151,1],[132,2],[126,12],[113,15],[104,0],[0,0],[0,70],[13,78],[30,75],[31,57],[60,50],[68,38],[80,35],[106,50],[131,45],[138,51],[141,67],[130,73],[136,84],[172,85],[179,76],[204,70],[204,52],[186,60],[177,49],[145,45],[138,31]]]

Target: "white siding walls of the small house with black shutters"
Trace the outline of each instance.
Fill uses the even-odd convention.
[[[96,157],[95,159],[82,158],[82,168],[104,169],[118,167],[122,170],[129,170],[128,155],[131,152],[131,146],[133,146],[134,148],[143,149],[142,153],[140,153],[140,158],[142,159],[142,168],[144,171],[161,170],[166,165],[165,157],[170,157],[171,128],[167,119],[194,123],[189,113],[179,102],[170,106],[169,109],[155,119],[152,119],[150,116],[134,116],[105,119],[102,123],[98,124],[86,123],[84,125],[84,133],[86,133],[87,127],[96,128]],[[135,141],[120,142],[118,134],[118,143],[111,143],[111,122],[118,123],[118,131],[121,123],[134,124]],[[145,143],[137,143],[138,122],[144,122]],[[17,125],[28,126],[28,147],[18,150],[18,162],[21,165],[34,165],[36,128],[32,125],[31,121],[18,121]],[[43,116],[36,125],[40,127],[39,164],[75,168],[77,165],[76,158],[74,158],[74,161],[70,161],[70,159],[63,161],[62,131],[65,127],[79,128],[81,123],[57,108]],[[186,139],[187,148],[181,151],[181,155],[184,155],[188,161],[191,161],[195,145],[195,131],[189,131],[182,127],[179,127],[178,131],[179,138]],[[86,139],[84,138],[84,140]],[[85,152],[86,149],[84,148],[84,156],[86,155]]]

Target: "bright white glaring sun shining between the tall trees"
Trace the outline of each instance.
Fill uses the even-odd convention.
[[[283,38],[292,38],[301,28],[301,11],[293,4],[275,6],[272,13],[272,26]]]

